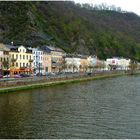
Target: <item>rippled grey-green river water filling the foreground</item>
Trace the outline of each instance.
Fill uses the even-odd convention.
[[[140,77],[1,94],[0,138],[140,138]]]

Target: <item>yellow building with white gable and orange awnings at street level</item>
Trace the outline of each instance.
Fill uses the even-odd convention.
[[[24,46],[6,45],[10,49],[9,55],[11,58],[10,73],[32,73],[33,71],[33,55],[32,51]]]

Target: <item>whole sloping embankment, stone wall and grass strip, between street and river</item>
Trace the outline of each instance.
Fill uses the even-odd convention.
[[[125,75],[124,71],[100,72],[94,74],[70,74],[58,76],[42,76],[17,79],[3,79],[0,81],[0,93],[13,92],[19,90],[41,88],[47,86],[75,83],[89,80],[97,80]]]

